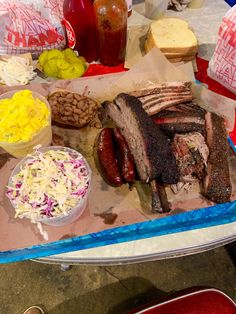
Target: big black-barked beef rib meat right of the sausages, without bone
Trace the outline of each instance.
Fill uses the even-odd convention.
[[[179,174],[170,142],[148,117],[140,101],[121,93],[114,102],[106,102],[104,106],[128,143],[140,179],[177,183]]]

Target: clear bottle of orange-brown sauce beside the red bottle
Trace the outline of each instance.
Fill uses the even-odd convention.
[[[126,0],[95,0],[93,6],[99,61],[107,66],[123,63],[127,39]]]

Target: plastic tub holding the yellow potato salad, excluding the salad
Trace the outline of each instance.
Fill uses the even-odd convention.
[[[10,92],[0,95],[0,99],[11,98],[19,90],[12,90]],[[26,155],[33,152],[33,148],[37,145],[42,147],[49,146],[52,141],[52,127],[51,127],[51,107],[45,97],[37,92],[32,91],[34,98],[39,98],[44,102],[49,109],[48,125],[36,133],[33,138],[28,142],[17,142],[17,143],[7,143],[0,142],[0,147],[2,147],[6,152],[11,154],[16,158],[25,157]]]

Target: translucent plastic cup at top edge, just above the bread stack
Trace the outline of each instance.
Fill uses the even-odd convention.
[[[168,7],[168,0],[145,0],[145,16],[155,20],[162,17]]]

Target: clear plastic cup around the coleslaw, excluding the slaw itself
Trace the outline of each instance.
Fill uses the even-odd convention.
[[[76,158],[79,158],[80,160],[83,161],[85,168],[86,168],[86,175],[87,175],[87,186],[86,186],[86,190],[85,193],[83,194],[83,197],[78,198],[78,202],[77,204],[72,207],[69,208],[68,212],[66,214],[62,214],[59,216],[54,216],[54,217],[47,217],[47,216],[43,216],[41,215],[40,218],[37,221],[34,221],[34,223],[42,223],[42,224],[46,224],[46,225],[50,225],[50,226],[64,226],[64,225],[68,225],[74,221],[76,221],[84,212],[86,206],[87,206],[87,201],[88,201],[88,196],[91,190],[91,175],[92,175],[92,171],[90,169],[90,166],[88,164],[88,162],[86,161],[86,159],[76,150],[73,150],[71,148],[68,147],[62,147],[62,146],[49,146],[49,147],[42,147],[39,149],[40,152],[45,153],[48,151],[63,151],[66,153],[69,153],[71,156],[74,156]],[[22,159],[14,168],[13,172],[11,173],[11,176],[9,178],[8,181],[8,187],[7,190],[11,189],[13,186],[13,181],[12,178],[20,172],[21,168],[25,165],[26,161],[28,161],[30,158],[30,156],[25,157],[24,159]],[[8,196],[8,194],[7,194]],[[14,202],[14,200],[12,200],[9,196],[8,198],[10,199],[10,202],[12,204],[12,206],[14,208],[16,208],[16,202]],[[23,217],[20,217],[23,218]],[[26,217],[29,218],[30,217]]]

